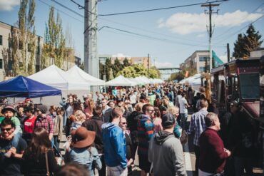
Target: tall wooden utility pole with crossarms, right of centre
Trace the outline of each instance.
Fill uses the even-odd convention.
[[[209,7],[209,11],[207,12],[207,10],[205,10],[205,14],[209,14],[209,56],[210,56],[210,67],[209,67],[209,72],[212,70],[213,68],[213,57],[212,57],[212,35],[213,35],[213,31],[212,31],[212,14],[218,14],[218,10],[216,12],[213,12],[212,10],[212,6],[219,6],[220,4],[203,4],[201,6],[204,7]]]

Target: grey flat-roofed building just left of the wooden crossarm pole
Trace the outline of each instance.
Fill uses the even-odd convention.
[[[189,56],[184,63],[180,64],[182,70],[196,71],[196,73],[204,72],[205,65],[209,68],[209,51],[195,51],[191,56]]]

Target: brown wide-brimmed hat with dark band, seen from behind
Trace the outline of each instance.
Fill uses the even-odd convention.
[[[86,130],[84,127],[77,128],[73,135],[73,147],[88,147],[93,143],[95,138],[96,132]]]

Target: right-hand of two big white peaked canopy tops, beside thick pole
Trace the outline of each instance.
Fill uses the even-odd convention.
[[[86,73],[85,71],[78,68],[78,66],[73,66],[71,69],[66,71],[67,78],[82,78],[86,83],[89,83],[91,86],[103,86],[106,82],[93,77]]]

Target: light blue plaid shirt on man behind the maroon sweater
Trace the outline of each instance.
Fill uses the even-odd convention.
[[[197,113],[193,113],[191,116],[191,123],[188,130],[188,134],[193,133],[195,131],[195,135],[193,138],[193,144],[196,146],[199,146],[199,137],[200,134],[203,133],[203,130],[205,130],[205,116],[208,114],[207,110],[199,110]]]

